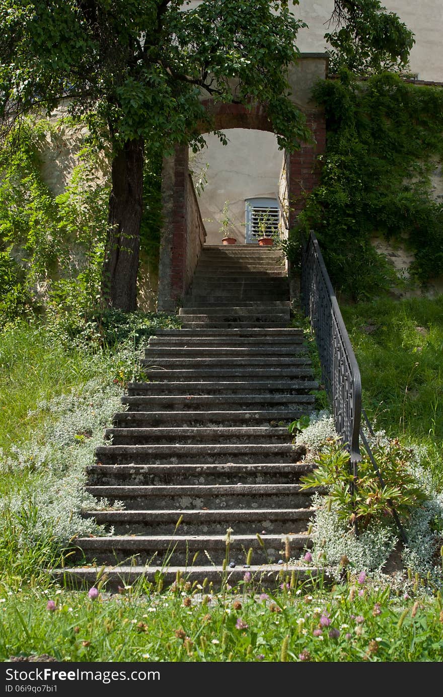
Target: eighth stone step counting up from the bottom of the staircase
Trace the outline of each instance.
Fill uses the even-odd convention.
[[[114,427],[125,428],[151,428],[158,425],[170,427],[234,427],[244,426],[272,426],[276,423],[289,424],[309,410],[280,409],[260,411],[232,411],[232,407],[225,411],[121,411],[113,416]]]

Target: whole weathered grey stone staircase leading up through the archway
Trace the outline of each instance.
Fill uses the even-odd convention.
[[[87,490],[124,507],[84,515],[114,534],[76,540],[82,566],[63,569],[66,583],[92,585],[100,572],[116,588],[158,571],[171,583],[180,569],[216,585],[227,528],[231,585],[251,548],[247,568],[262,585],[282,569],[315,575],[285,558],[288,544],[293,558],[312,544],[313,508],[298,483],[310,465],[296,462],[287,424],[312,411],[317,383],[303,332],[287,328],[280,252],[204,247],[179,314],[182,329],[149,339],[147,382],[128,385],[127,411],[88,469]]]

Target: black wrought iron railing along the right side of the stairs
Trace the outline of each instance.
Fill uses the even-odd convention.
[[[336,431],[350,452],[356,474],[356,463],[361,460],[359,365],[313,232],[301,247],[301,306],[315,332],[322,381],[332,406]]]

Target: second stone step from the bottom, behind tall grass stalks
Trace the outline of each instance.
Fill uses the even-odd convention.
[[[137,535],[128,537],[77,537],[74,558],[88,556],[100,564],[119,564],[134,556],[136,564],[163,562],[164,565],[189,566],[198,559],[200,565],[223,564],[226,556],[225,535]],[[308,535],[287,535],[292,556],[300,557],[301,551],[313,546]],[[276,563],[285,554],[285,530],[280,534],[263,535],[260,544],[256,535],[232,535],[230,560],[245,564],[248,550],[253,549],[256,563]]]

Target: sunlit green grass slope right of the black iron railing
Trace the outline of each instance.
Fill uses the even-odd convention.
[[[341,307],[377,429],[430,448],[443,474],[443,296]]]

